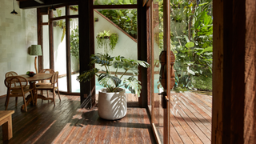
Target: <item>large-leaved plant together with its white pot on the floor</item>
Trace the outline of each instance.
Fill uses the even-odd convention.
[[[101,118],[114,120],[123,118],[127,112],[126,90],[130,90],[132,94],[140,95],[142,86],[140,82],[134,78],[138,75],[138,66],[148,67],[147,62],[124,58],[121,56],[111,57],[109,54],[93,54],[90,56],[90,65],[98,64],[105,68],[100,70],[92,68],[84,71],[78,76],[79,82],[90,81],[94,75],[98,78],[100,85],[105,88],[98,94],[98,115]],[[110,66],[114,68],[111,73]],[[118,70],[122,70],[122,75],[118,76]],[[133,75],[129,78],[123,76],[130,71]]]

